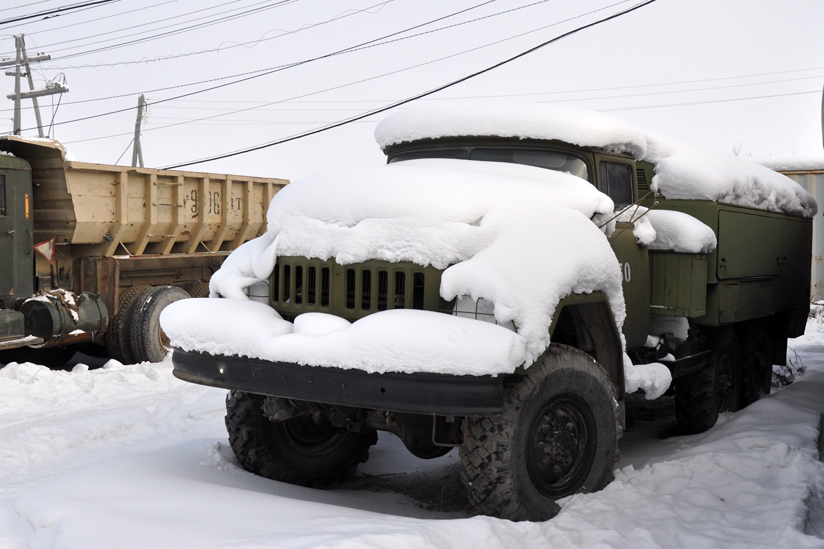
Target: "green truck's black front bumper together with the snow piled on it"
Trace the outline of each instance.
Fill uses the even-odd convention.
[[[185,381],[392,412],[500,413],[503,380],[524,356],[507,328],[412,309],[290,323],[252,300],[191,299],[167,306],[161,324]]]

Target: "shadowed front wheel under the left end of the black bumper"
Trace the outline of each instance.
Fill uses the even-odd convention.
[[[275,481],[322,488],[351,477],[369,458],[377,432],[354,433],[312,416],[269,421],[264,396],[232,391],[226,399],[229,444],[246,471]]]

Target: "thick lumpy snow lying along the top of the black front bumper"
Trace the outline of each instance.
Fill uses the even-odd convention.
[[[185,351],[367,372],[459,375],[511,373],[526,359],[517,333],[442,313],[386,310],[355,323],[307,313],[293,325],[252,300],[179,303],[163,310],[161,322],[172,345]]]

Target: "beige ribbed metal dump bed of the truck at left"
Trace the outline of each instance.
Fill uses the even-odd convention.
[[[67,159],[59,142],[0,137],[29,162],[35,242],[56,237],[73,255],[231,251],[266,230],[269,201],[288,181]]]

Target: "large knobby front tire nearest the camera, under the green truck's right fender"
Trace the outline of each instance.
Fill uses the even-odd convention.
[[[481,512],[545,520],[560,498],[613,479],[620,438],[615,389],[601,365],[552,345],[504,388],[502,416],[467,418],[461,480]]]

